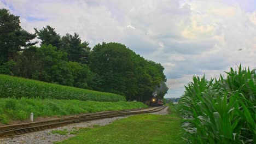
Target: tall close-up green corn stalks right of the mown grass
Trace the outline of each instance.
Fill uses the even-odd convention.
[[[194,76],[180,100],[188,143],[256,143],[255,69],[230,69],[226,77]]]

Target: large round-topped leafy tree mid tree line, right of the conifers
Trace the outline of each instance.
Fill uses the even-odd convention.
[[[90,68],[102,76],[103,83],[99,87],[104,91],[127,97],[137,93],[131,53],[125,45],[97,44],[90,53]]]

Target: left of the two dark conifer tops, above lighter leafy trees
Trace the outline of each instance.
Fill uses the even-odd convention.
[[[34,31],[36,31],[36,34],[38,35],[38,39],[42,40],[41,45],[49,45],[57,47],[57,49],[60,49],[61,47],[61,36],[60,34],[57,34],[55,32],[55,28],[51,26],[43,27],[43,29],[40,29],[39,31],[37,28],[34,28]]]

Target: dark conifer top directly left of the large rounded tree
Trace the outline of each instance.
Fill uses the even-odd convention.
[[[68,53],[69,61],[87,63],[90,47],[86,41],[82,43],[77,33],[67,33],[61,38],[61,50]]]

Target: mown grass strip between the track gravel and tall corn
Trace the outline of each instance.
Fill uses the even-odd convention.
[[[183,143],[177,113],[136,115],[112,124],[84,128],[60,143]]]

